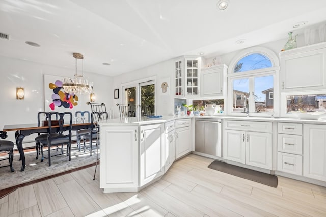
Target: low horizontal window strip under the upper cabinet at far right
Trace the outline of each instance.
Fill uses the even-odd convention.
[[[326,111],[326,94],[287,96],[286,108],[288,113]]]

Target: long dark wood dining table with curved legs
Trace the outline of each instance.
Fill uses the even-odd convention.
[[[91,129],[93,128],[93,123],[91,122],[77,122],[77,123],[72,123],[71,130],[80,130],[80,129]],[[64,128],[70,126],[69,123],[64,124]],[[53,126],[52,128],[58,128],[59,126]],[[13,125],[5,125],[3,128],[3,131],[16,131],[15,132],[15,138],[16,138],[16,145],[18,152],[20,154],[20,160],[21,160],[21,170],[25,170],[25,154],[23,150],[23,139],[26,137],[26,135],[31,135],[33,133],[48,133],[49,132],[49,126],[39,126],[39,124],[13,124]]]

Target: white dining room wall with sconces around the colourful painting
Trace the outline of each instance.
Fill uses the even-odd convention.
[[[34,62],[0,56],[0,129],[4,125],[37,123],[37,113],[44,111],[44,74],[73,77],[74,70],[42,65]],[[84,72],[86,79],[94,82],[96,103],[112,107],[112,78]],[[16,87],[25,89],[23,100],[16,99]],[[80,97],[76,110],[90,111],[86,105],[89,95]],[[76,111],[76,110],[73,110]],[[14,132],[8,132],[8,139],[14,140]],[[33,139],[26,137],[24,141]]]

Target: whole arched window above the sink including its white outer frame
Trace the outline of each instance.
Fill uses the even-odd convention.
[[[262,47],[241,51],[228,69],[228,112],[237,115],[276,114],[279,59]],[[277,114],[279,111],[277,111]]]

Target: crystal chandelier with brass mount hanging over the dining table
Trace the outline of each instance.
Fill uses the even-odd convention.
[[[83,77],[83,59],[84,56],[80,53],[73,53],[76,59],[76,74],[73,78],[66,77],[63,79],[62,87],[69,94],[90,94],[93,89],[93,82],[84,79]],[[77,74],[77,59],[82,59],[82,74]]]

